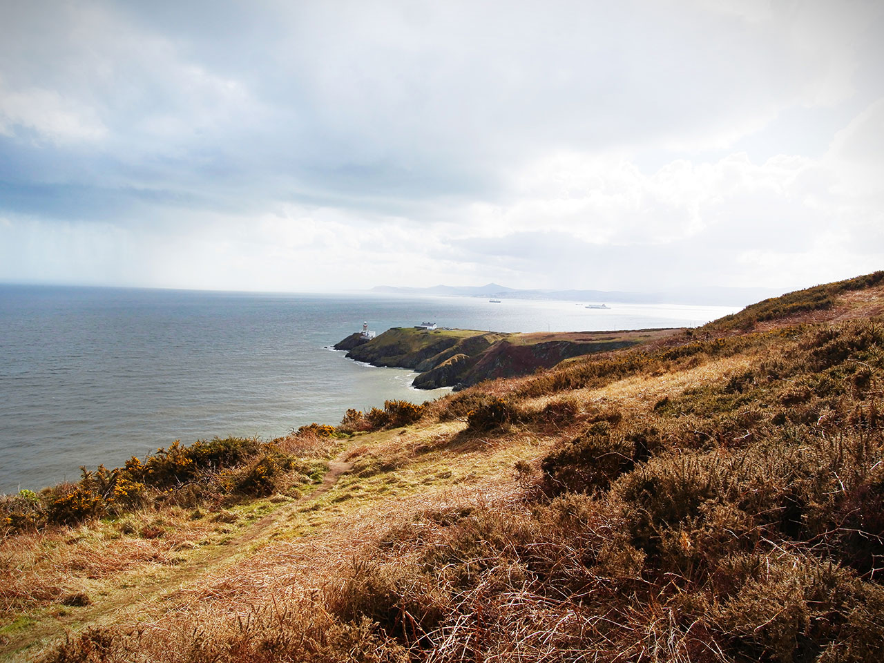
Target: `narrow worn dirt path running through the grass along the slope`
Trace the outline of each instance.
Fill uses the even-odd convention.
[[[195,554],[179,566],[159,569],[156,575],[160,577],[156,577],[153,569],[134,569],[124,575],[109,578],[109,585],[112,586],[109,594],[91,606],[74,608],[56,616],[43,614],[37,617],[27,629],[0,641],[0,659],[28,660],[33,657],[34,650],[63,636],[65,632],[80,630],[86,626],[105,626],[127,616],[147,613],[149,606],[167,601],[183,585],[206,575],[210,569],[221,570],[236,563],[242,554],[251,552],[249,544],[255,539],[278,524],[291,521],[294,512],[329,492],[338,483],[340,476],[353,468],[353,463],[339,458],[329,461],[328,467],[323,483],[306,499],[273,509],[260,520],[247,525],[236,537],[224,544],[207,546],[204,552]],[[135,583],[137,586],[133,586]],[[164,610],[169,607],[164,606]]]

